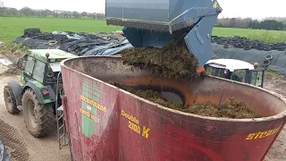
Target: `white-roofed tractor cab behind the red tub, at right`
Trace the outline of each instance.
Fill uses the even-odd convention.
[[[263,88],[265,69],[258,69],[257,66],[257,63],[248,64],[235,59],[213,59],[209,60],[204,67],[208,75]]]

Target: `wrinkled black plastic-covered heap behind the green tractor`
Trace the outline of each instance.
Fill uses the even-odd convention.
[[[13,42],[32,49],[59,48],[73,55],[114,55],[122,49],[132,47],[125,37],[118,34],[58,31],[41,33],[39,30],[25,30],[24,35]]]

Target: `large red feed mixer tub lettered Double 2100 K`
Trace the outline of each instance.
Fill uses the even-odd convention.
[[[232,80],[206,76],[171,80],[122,63],[88,56],[61,63],[64,120],[74,160],[264,160],[285,125],[285,98]],[[243,100],[261,118],[231,119],[184,113],[111,85],[154,89],[183,104]]]

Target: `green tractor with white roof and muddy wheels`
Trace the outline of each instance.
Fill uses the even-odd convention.
[[[4,103],[10,114],[22,111],[26,127],[36,138],[44,137],[55,123],[63,89],[61,61],[76,57],[59,49],[35,49],[21,58],[21,84],[13,80],[4,87]]]

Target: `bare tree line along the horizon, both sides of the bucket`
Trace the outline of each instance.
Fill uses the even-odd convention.
[[[4,16],[38,16],[38,17],[60,17],[60,18],[88,18],[104,20],[104,13],[79,13],[60,10],[33,10],[29,7],[23,7],[17,10],[11,7],[4,7],[0,0],[0,15]],[[253,20],[251,18],[222,18],[218,19],[216,27],[221,28],[240,28],[240,29],[258,29],[258,30],[286,30],[286,17],[269,17],[263,21]]]

